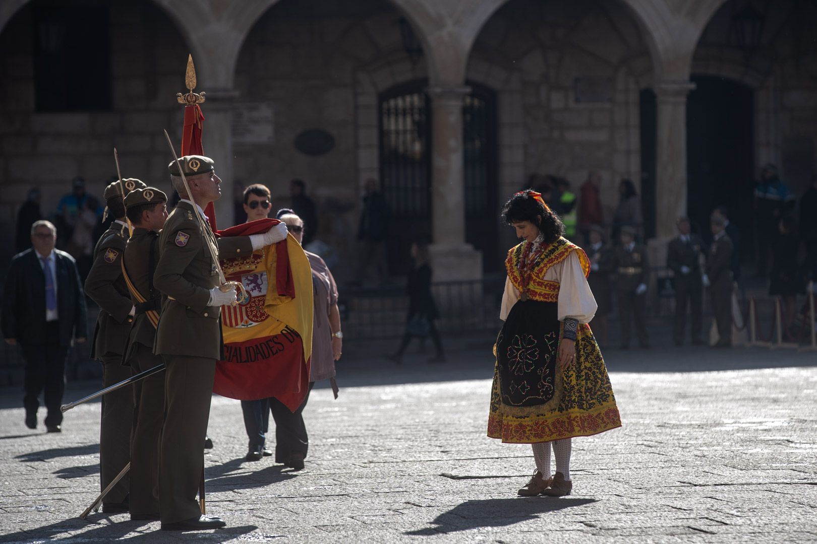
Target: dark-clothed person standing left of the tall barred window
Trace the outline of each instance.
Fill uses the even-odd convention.
[[[355,277],[363,285],[369,268],[374,267],[378,281],[386,278],[386,240],[389,237],[389,205],[377,179],[369,178],[364,184],[363,211],[357,238],[363,243],[363,252]]]

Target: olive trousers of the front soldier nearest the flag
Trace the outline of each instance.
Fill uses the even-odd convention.
[[[216,360],[163,355],[164,422],[159,446],[158,498],[163,524],[201,515],[196,493],[204,467],[202,444],[210,418]]]

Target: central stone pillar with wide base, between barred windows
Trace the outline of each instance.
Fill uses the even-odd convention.
[[[469,91],[465,86],[428,89],[432,120],[431,260],[435,281],[482,278],[482,254],[465,241],[462,99]]]

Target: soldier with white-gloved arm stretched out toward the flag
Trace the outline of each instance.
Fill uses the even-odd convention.
[[[180,164],[190,194],[181,179]],[[218,254],[250,255],[283,240],[287,228],[280,223],[264,234],[217,238],[203,212],[221,197],[221,179],[212,159],[185,156],[171,162],[169,169],[181,201],[159,235],[154,274],[154,286],[162,293],[154,353],[167,365],[159,513],[164,530],[217,529],[225,526],[224,521],[202,515],[195,497],[203,471],[202,444],[216,361],[223,356],[221,306],[234,303],[236,294],[234,289],[219,289],[219,264],[212,255],[216,259]]]

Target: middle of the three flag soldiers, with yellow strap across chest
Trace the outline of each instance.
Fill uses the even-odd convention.
[[[167,219],[167,195],[156,188],[136,189],[125,197],[133,234],[127,241],[124,268],[136,312],[127,338],[124,363],[133,374],[163,363],[154,355],[161,299],[154,287],[158,233]],[[164,415],[164,373],[133,384],[131,432],[131,519],[158,520],[158,444]]]

